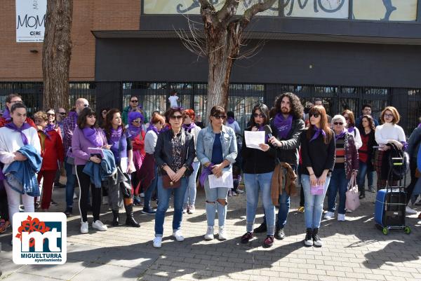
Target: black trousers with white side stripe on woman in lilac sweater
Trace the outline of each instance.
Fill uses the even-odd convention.
[[[85,165],[76,166],[76,179],[79,182],[81,191],[81,194],[79,195],[81,219],[83,222],[88,221],[89,187],[91,187],[93,221],[98,221],[98,219],[100,219],[102,189],[98,189],[94,184],[91,184],[91,177],[83,172],[84,167]]]

